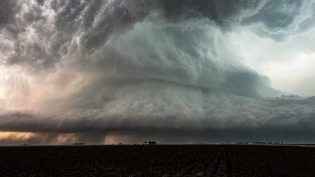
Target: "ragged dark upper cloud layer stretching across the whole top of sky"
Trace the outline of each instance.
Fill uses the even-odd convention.
[[[2,11],[1,22],[6,24],[7,30],[15,36],[20,35],[20,38],[14,40],[15,53],[6,63],[26,63],[44,69],[54,67],[67,53],[76,34],[82,34],[81,54],[91,53],[103,46],[113,32],[125,33],[133,29],[135,23],[143,21],[152,12],[161,12],[165,19],[177,23],[206,18],[214,21],[223,30],[231,30],[241,21],[243,25],[262,22],[263,29],[254,29],[259,35],[268,35],[270,38],[275,38],[276,35],[282,39],[287,35],[273,33],[286,30],[296,21],[300,20],[300,23],[304,21],[295,18],[299,15],[301,4],[301,1],[263,0],[224,2],[52,0],[19,4],[3,1],[1,6],[5,10]],[[27,9],[23,9],[23,5],[27,5]],[[53,14],[49,13],[51,9],[54,11]],[[49,17],[51,15],[53,17]],[[35,30],[37,39],[26,42],[25,37],[30,33],[29,27]]]

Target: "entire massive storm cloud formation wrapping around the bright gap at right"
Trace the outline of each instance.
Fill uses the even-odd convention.
[[[3,1],[0,130],[54,135],[38,140],[46,143],[91,132],[311,132],[314,97],[281,96],[248,65],[235,35],[307,35],[312,4]]]

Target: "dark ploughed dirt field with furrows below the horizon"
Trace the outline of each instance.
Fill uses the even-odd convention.
[[[314,147],[0,147],[0,176],[315,176]]]

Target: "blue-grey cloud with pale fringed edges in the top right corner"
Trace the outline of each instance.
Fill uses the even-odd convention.
[[[268,1],[258,13],[242,19],[241,25],[256,25],[253,30],[259,36],[282,41],[311,29],[314,9],[313,1]]]

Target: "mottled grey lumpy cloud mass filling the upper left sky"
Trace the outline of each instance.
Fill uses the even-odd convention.
[[[3,11],[1,21],[4,25],[8,24],[8,31],[20,35],[20,38],[14,39],[14,54],[6,63],[28,64],[38,69],[54,67],[67,53],[69,43],[76,33],[83,33],[80,38],[81,52],[99,48],[114,30],[123,32],[132,29],[132,25],[141,21],[149,12],[146,9],[131,9],[132,12],[129,12],[126,3],[78,0],[38,1],[36,4],[20,2],[19,7],[27,5],[27,8],[14,13],[11,10],[13,5],[5,1],[1,4],[3,8],[10,7]],[[51,9],[53,14],[49,12]],[[12,27],[16,30],[12,30]],[[30,32],[34,32],[33,37],[36,38],[26,41]]]

